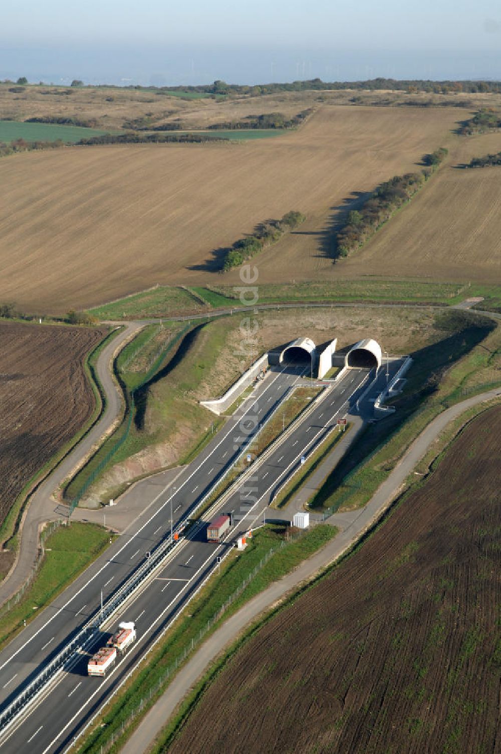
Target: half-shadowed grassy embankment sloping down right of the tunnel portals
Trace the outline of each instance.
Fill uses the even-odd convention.
[[[469,395],[501,384],[500,326],[459,311],[438,315],[436,326],[444,339],[411,354],[414,363],[405,390],[389,401],[396,413],[366,428],[350,455],[311,498],[312,510],[365,505],[435,416]],[[474,413],[482,410],[478,406]]]

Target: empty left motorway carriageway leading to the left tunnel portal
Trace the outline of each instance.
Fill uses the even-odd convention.
[[[203,497],[220,474],[233,462],[238,452],[234,438],[240,421],[258,413],[264,421],[298,381],[303,367],[270,371],[250,400],[239,409],[225,427],[215,435],[194,463],[176,481],[173,489],[174,525],[187,510]],[[272,400],[267,398],[271,396]],[[258,404],[258,405],[256,405]],[[240,433],[242,434],[242,433]],[[237,449],[235,449],[237,447]],[[174,513],[176,511],[176,513]],[[60,650],[62,642],[76,633],[88,617],[99,608],[101,589],[107,599],[145,559],[145,553],[170,536],[170,489],[157,496],[157,502],[132,529],[118,539],[105,555],[60,595],[41,616],[29,624],[0,652],[0,703],[8,703],[32,670]]]

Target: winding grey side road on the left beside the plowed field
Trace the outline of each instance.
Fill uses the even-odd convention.
[[[45,477],[35,492],[29,498],[20,523],[20,543],[14,568],[0,584],[0,605],[6,602],[19,590],[35,562],[38,550],[38,529],[42,523],[61,518],[56,513],[57,503],[52,493],[68,477],[72,469],[87,455],[92,446],[99,441],[103,434],[113,425],[121,412],[121,392],[112,378],[109,368],[113,354],[129,340],[137,330],[144,326],[142,322],[124,323],[124,331],[103,348],[96,364],[97,374],[106,397],[106,407],[99,421],[90,428],[81,441],[66,455],[65,458]]]

